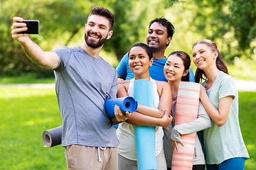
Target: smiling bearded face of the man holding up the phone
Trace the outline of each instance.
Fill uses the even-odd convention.
[[[85,24],[85,42],[89,47],[101,47],[110,39],[113,31],[110,30],[110,21],[103,16],[91,15]]]

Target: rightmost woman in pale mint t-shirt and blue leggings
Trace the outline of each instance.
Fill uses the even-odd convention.
[[[212,119],[204,130],[207,170],[244,169],[249,154],[242,140],[238,120],[238,90],[234,79],[211,40],[198,40],[193,45],[196,82],[201,82],[200,98]]]

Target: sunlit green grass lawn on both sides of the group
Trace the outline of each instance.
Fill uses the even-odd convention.
[[[239,92],[240,128],[250,159],[256,166],[256,93]],[[64,149],[44,148],[43,130],[61,125],[54,89],[0,86],[0,169],[66,169]]]

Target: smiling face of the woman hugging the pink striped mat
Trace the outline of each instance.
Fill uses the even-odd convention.
[[[188,74],[183,61],[177,55],[170,55],[164,65],[164,75],[168,81],[181,81],[183,76]]]

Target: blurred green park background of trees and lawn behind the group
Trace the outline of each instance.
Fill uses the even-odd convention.
[[[176,29],[166,56],[175,50],[191,55],[194,42],[210,39],[234,79],[256,81],[255,0],[0,0],[0,169],[66,169],[64,149],[44,148],[41,140],[43,130],[61,125],[55,89],[23,85],[54,84],[53,72],[29,61],[11,38],[12,18],[38,19],[40,34],[31,39],[48,51],[82,45],[95,6],[114,14],[114,34],[100,52],[113,67],[134,43],[146,42],[152,19],[165,16]],[[196,69],[193,63],[191,68]],[[250,154],[245,169],[255,169],[256,92],[239,91],[239,104]]]

